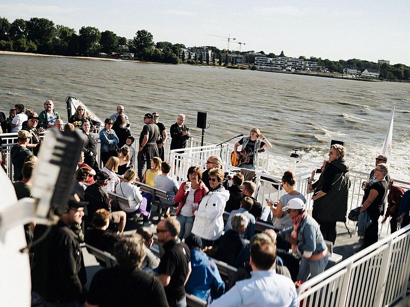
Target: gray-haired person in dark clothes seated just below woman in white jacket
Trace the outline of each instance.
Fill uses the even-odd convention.
[[[236,265],[236,259],[241,250],[247,245],[243,238],[243,233],[247,229],[249,218],[243,213],[236,213],[232,216],[231,225],[229,229],[221,238],[215,258],[226,262],[230,266]]]

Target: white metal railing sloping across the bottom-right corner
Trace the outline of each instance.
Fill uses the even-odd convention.
[[[410,225],[304,282],[302,307],[391,306],[406,295]]]

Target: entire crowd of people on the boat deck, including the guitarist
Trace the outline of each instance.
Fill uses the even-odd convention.
[[[331,146],[317,180],[317,171],[312,172],[308,188],[313,191],[311,216],[306,211],[308,195],[295,189],[295,175],[290,170],[284,172],[280,182],[279,188],[285,193],[277,202],[267,199],[266,205],[255,198],[252,176],[245,180],[244,174],[248,176],[249,172],[235,174],[229,184],[218,156],[210,156],[204,170],[189,167],[187,181],[179,184],[170,173],[163,145],[170,136],[171,149],[186,147],[190,133],[183,114],[177,116],[169,135],[157,112],[145,114],[137,152],[122,105],[104,124],[79,105],[64,125],[51,100],[44,103],[39,115],[16,104],[9,117],[0,114],[0,120],[3,132],[17,133],[11,161],[4,161],[3,155],[0,160],[4,168],[7,162],[13,164],[18,199],[31,197],[31,175],[42,131],[54,128],[69,133],[79,129],[86,139],[72,198],[59,222],[51,229],[25,225],[28,243],[42,238],[31,249],[30,261],[33,291],[46,306],[81,306],[85,302],[86,306],[183,307],[186,293],[211,306],[297,306],[295,280],[290,273],[295,268],[278,253],[292,249],[300,257],[294,279],[306,281],[324,271],[329,259],[326,241],[334,244],[336,222],[346,221],[350,179],[342,145]],[[95,128],[101,128],[100,152],[91,133]],[[258,150],[271,147],[260,130],[252,128],[248,137],[235,144],[234,155],[239,159],[245,151],[249,159],[241,167],[252,171],[257,166]],[[101,165],[97,163],[98,154]],[[379,155],[370,180],[362,186],[359,227],[363,229],[364,247],[377,242],[381,215],[382,223],[391,217],[392,232],[398,222],[402,227],[410,222],[410,192],[394,185],[386,162],[387,157]],[[169,199],[161,200],[162,206],[175,209],[167,210],[168,218],[159,218],[156,227],[160,258],[150,250],[154,236],[150,227],[151,195],[141,192],[137,181],[166,191]],[[111,202],[108,192],[128,199],[129,204]],[[175,218],[171,218],[171,212]],[[229,213],[227,219],[225,212]],[[144,224],[136,233],[125,234],[127,217],[135,214],[142,215]],[[81,227],[83,221],[85,227]],[[273,225],[274,230],[255,233],[257,221]],[[79,247],[82,242],[108,252],[117,261],[116,267],[94,275],[88,291]],[[238,269],[233,283],[222,281],[210,256]]]

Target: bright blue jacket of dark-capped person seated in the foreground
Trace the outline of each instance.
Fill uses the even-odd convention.
[[[211,302],[225,291],[225,284],[219,275],[218,268],[204,252],[191,250],[192,272],[185,290],[203,300]]]

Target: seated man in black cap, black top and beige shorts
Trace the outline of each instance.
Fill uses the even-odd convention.
[[[124,231],[127,221],[127,214],[124,211],[111,211],[110,199],[107,190],[104,188],[110,179],[110,175],[105,171],[97,173],[95,183],[88,186],[84,191],[84,200],[89,203],[87,207],[88,221],[94,216],[98,209],[106,209],[110,212],[110,223],[117,225],[117,232],[121,234]]]

